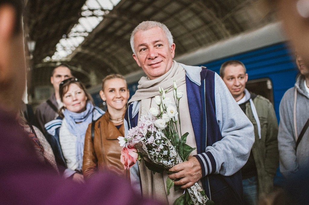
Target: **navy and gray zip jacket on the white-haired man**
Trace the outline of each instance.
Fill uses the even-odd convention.
[[[189,113],[198,153],[194,156],[202,167],[205,193],[216,204],[243,204],[240,168],[247,162],[254,143],[253,125],[218,74],[206,67],[180,65],[186,70]],[[137,125],[138,109],[139,102],[128,105],[127,129]]]

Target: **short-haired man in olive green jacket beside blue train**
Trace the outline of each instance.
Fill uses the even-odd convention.
[[[256,204],[258,196],[264,197],[272,191],[279,163],[276,114],[268,99],[245,89],[248,74],[242,62],[231,60],[223,63],[220,76],[254,126],[255,142],[241,171],[244,201]]]

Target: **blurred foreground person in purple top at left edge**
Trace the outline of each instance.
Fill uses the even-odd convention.
[[[115,175],[79,184],[36,157],[16,120],[26,85],[22,10],[21,0],[0,0],[0,204],[160,204],[142,199]]]

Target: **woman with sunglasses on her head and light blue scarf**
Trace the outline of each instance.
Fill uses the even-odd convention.
[[[49,143],[60,173],[66,178],[84,182],[82,175],[85,133],[89,123],[104,114],[94,106],[91,95],[77,78],[68,78],[59,85],[64,106],[59,117],[45,124]]]

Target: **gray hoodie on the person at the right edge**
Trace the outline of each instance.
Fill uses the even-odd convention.
[[[296,140],[309,118],[309,94],[305,89],[304,81],[304,76],[299,75],[295,86],[286,91],[280,102],[278,146],[280,171],[285,177],[290,177],[309,167],[309,129],[298,145],[297,152],[295,151]],[[297,97],[294,115],[295,89]]]

